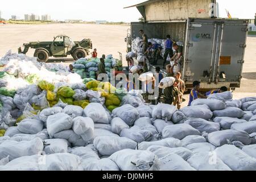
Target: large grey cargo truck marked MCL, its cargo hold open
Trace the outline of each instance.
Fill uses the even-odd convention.
[[[137,37],[141,38],[139,30],[144,30],[148,39],[165,39],[169,34],[175,42],[183,42],[181,74],[187,89],[192,88],[192,82],[195,80],[201,82],[201,88],[204,90],[217,89],[221,86],[233,90],[240,88],[249,30],[248,20],[201,18],[201,15],[198,14],[192,14],[197,16],[196,18],[190,18],[188,14],[181,19],[171,19],[170,17],[165,19],[164,15],[160,15],[163,19],[160,20],[159,16],[152,18],[147,11],[157,11],[158,4],[162,2],[150,2],[136,5],[142,15],[144,14],[144,22],[131,22],[130,32],[126,38],[127,51],[131,50],[132,40]],[[200,0],[196,2],[200,5]],[[170,9],[167,8],[167,10]],[[184,8],[184,11],[188,10]],[[147,14],[148,16],[146,16]],[[160,61],[158,61],[159,63]],[[148,64],[148,68],[152,72],[157,66]],[[166,69],[162,69],[162,72],[166,73]]]

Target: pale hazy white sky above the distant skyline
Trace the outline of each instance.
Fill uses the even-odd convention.
[[[9,19],[11,15],[24,18],[24,14],[49,14],[52,19],[82,19],[82,20],[108,20],[113,22],[137,21],[141,14],[133,7],[123,9],[125,6],[135,5],[146,0],[1,0],[0,11],[2,18]],[[256,13],[255,0],[218,0],[220,16],[226,18],[225,9],[229,10],[232,18],[254,18]]]

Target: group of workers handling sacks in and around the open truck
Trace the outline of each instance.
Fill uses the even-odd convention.
[[[140,30],[139,33],[142,35],[142,40],[141,42],[141,47],[143,49],[143,55],[147,57],[147,59],[153,59],[154,65],[157,64],[158,59],[160,56],[162,56],[162,47],[158,43],[151,43],[148,42],[148,37],[146,34],[144,34],[143,30]],[[164,42],[164,54],[162,56],[164,62],[163,62],[163,68],[166,66],[166,71],[167,71],[167,77],[175,77],[176,80],[174,81],[174,84],[172,86],[168,86],[165,89],[160,89],[159,88],[159,96],[157,98],[157,102],[160,102],[160,98],[163,96],[163,103],[164,104],[174,104],[177,106],[177,109],[180,109],[181,103],[183,102],[183,94],[185,92],[185,82],[181,80],[181,73],[177,72],[176,74],[174,73],[174,67],[177,64],[182,64],[182,56],[183,56],[183,47],[178,46],[174,41],[171,40],[171,36],[167,35],[166,36],[166,41]],[[175,50],[175,54],[173,52]],[[127,54],[128,55],[128,54]],[[129,56],[126,56],[127,63],[129,65],[129,69],[133,67],[134,65],[134,60],[133,57],[136,56],[136,53],[129,53]],[[173,61],[173,64],[168,64],[166,65],[167,62],[167,57],[170,56],[170,61]],[[170,62],[171,63],[171,62]],[[142,63],[139,63],[139,69],[137,73],[141,75],[142,73],[148,72],[147,64],[146,61],[143,61]],[[155,69],[156,75],[159,78],[159,83],[163,78],[163,74],[160,73],[160,67],[156,67]],[[127,77],[128,78],[128,77]],[[155,80],[152,78],[151,85],[154,88],[155,85]],[[161,83],[160,83],[161,84]],[[131,82],[129,81],[129,85],[131,85]],[[141,86],[141,85],[140,85]],[[150,95],[147,92],[147,86],[148,86],[148,81],[146,81],[146,93],[143,93],[143,98],[146,102],[150,102],[148,100],[148,96]],[[127,88],[129,86],[127,85]],[[141,87],[140,87],[141,89]],[[205,95],[200,94],[200,82],[199,81],[194,81],[193,82],[193,89],[191,90],[191,93],[189,94],[189,102],[188,106],[191,105],[191,102],[193,100],[196,100],[197,98],[207,98],[210,94],[214,93],[220,93],[220,92],[225,92],[228,89],[226,86],[222,86],[220,89],[217,90],[210,90],[207,92]],[[154,100],[151,100],[152,104],[155,104],[156,102]]]

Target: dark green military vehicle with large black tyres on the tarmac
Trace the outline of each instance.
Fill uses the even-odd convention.
[[[24,43],[24,50],[18,48],[19,53],[26,54],[29,48],[35,49],[34,57],[38,61],[47,62],[49,56],[67,57],[72,55],[74,60],[86,57],[89,55],[89,49],[92,48],[90,39],[73,42],[67,35],[58,35],[53,39],[53,42],[30,42]]]

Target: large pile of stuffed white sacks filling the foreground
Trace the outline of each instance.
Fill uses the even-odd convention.
[[[255,103],[224,92],[181,110],[135,102],[112,113],[98,103],[49,107],[0,137],[0,169],[256,170]]]

